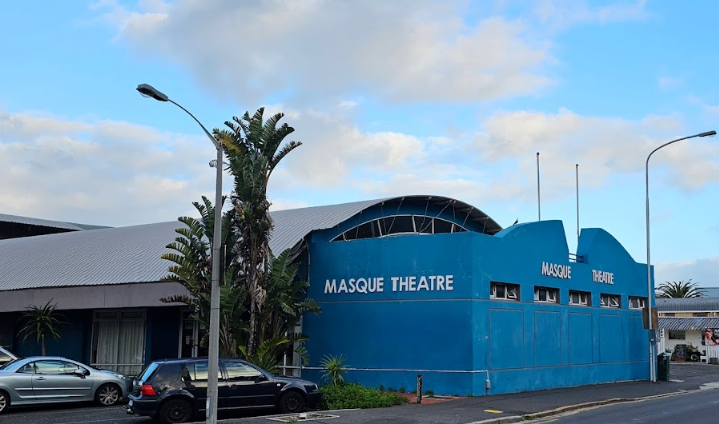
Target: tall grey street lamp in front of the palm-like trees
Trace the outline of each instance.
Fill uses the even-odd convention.
[[[220,340],[220,249],[222,237],[222,143],[220,140],[207,131],[202,123],[195,118],[187,109],[175,103],[164,93],[158,91],[149,84],[140,84],[137,91],[145,97],[151,97],[160,102],[170,102],[180,109],[184,110],[192,119],[197,122],[207,137],[212,140],[212,144],[217,149],[217,162],[214,166],[217,170],[215,179],[215,229],[212,238],[212,285],[210,289],[210,345],[208,346],[208,364],[207,364],[207,412],[206,422],[209,424],[217,423],[217,373],[219,362],[219,340]]]

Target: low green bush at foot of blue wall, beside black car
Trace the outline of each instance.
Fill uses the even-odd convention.
[[[330,384],[320,387],[320,392],[322,409],[383,408],[407,403],[407,399],[396,393],[380,392],[359,384]]]

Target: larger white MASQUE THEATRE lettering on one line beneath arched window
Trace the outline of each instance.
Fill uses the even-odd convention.
[[[454,275],[390,277],[393,292],[453,291]],[[327,279],[325,294],[382,293],[384,277]]]

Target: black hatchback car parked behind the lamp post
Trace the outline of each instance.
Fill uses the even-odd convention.
[[[218,410],[277,407],[297,413],[315,407],[315,383],[275,376],[247,361],[220,358],[217,375]],[[207,358],[154,361],[133,382],[125,407],[128,414],[148,416],[164,424],[190,422],[205,412]]]

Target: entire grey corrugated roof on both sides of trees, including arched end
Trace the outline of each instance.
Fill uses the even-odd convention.
[[[470,219],[486,223],[489,234],[501,230],[466,203],[441,196],[407,196],[274,211],[270,249],[282,252],[313,230],[335,227],[374,205],[405,199],[449,203]],[[169,251],[165,246],[182,226],[171,221],[0,240],[0,291],[159,281],[170,265],[160,256]]]

